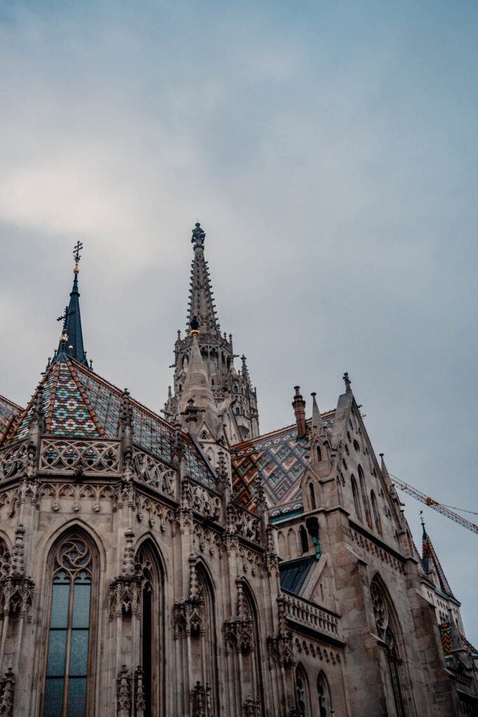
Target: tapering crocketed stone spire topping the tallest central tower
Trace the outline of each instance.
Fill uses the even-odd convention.
[[[189,290],[189,308],[187,326],[196,316],[199,320],[201,330],[219,333],[219,323],[216,319],[214,298],[209,277],[208,263],[204,259],[204,239],[206,233],[201,229],[201,224],[196,223],[193,229],[191,243],[193,244],[194,257],[191,263],[191,284]]]

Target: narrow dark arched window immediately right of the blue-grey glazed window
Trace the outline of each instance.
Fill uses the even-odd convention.
[[[159,711],[161,684],[161,616],[162,580],[156,551],[146,541],[140,546],[135,560],[136,574],[140,577],[140,668],[144,693],[144,717],[151,717]],[[160,650],[158,650],[160,646]]]

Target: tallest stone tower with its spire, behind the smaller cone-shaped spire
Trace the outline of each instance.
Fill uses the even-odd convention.
[[[204,258],[205,239],[206,233],[198,222],[191,238],[194,254],[191,263],[186,336],[181,338],[181,331],[178,331],[174,345],[173,392],[170,386],[164,414],[168,421],[182,424],[185,421],[187,402],[195,398],[195,391],[198,399],[201,392],[204,393],[205,374],[209,384],[207,389],[208,392],[209,389],[211,391],[219,422],[224,427],[229,444],[234,445],[259,435],[257,393],[252,387],[246,357],[241,357],[241,369],[236,371],[234,359],[237,354],[234,354],[232,336],[229,334],[228,338],[226,332],[221,335],[209,267]],[[194,347],[195,343],[199,351]],[[198,370],[201,369],[198,366],[199,354],[204,371],[199,371],[203,374],[203,379],[201,386],[198,384],[196,387],[194,377],[199,376]],[[190,430],[191,426],[188,426],[188,429]]]

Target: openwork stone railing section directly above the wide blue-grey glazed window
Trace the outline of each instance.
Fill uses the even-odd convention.
[[[41,473],[114,473],[120,472],[120,442],[44,438],[40,447]]]

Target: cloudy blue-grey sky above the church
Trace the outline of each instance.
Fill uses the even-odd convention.
[[[262,432],[348,371],[388,470],[478,511],[477,23],[476,0],[4,0],[0,394],[34,391],[80,239],[88,357],[159,411],[199,221]],[[477,536],[401,495],[478,645]]]

